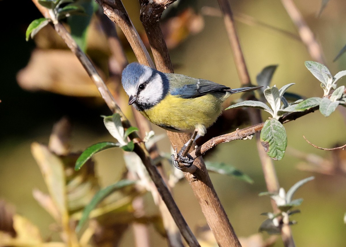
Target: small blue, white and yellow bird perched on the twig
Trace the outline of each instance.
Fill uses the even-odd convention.
[[[197,138],[220,116],[222,103],[231,94],[261,88],[231,89],[208,80],[162,73],[139,63],[125,67],[121,83],[129,96],[128,104],[153,124],[175,132],[195,131]]]

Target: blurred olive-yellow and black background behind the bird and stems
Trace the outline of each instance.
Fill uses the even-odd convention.
[[[323,49],[325,65],[332,74],[345,70],[346,55],[333,62],[346,43],[345,2],[330,0],[320,17],[317,14],[321,0],[295,3]],[[124,5],[147,44],[138,18],[138,1],[127,0]],[[290,92],[305,97],[321,97],[320,83],[304,66],[304,61],[311,60],[311,57],[297,38],[297,30],[281,2],[231,1],[231,6],[253,83],[262,68],[276,64],[272,85],[281,88],[294,82],[296,84]],[[174,9],[174,5],[170,8],[171,11],[164,15],[162,27],[175,73],[239,87],[224,22],[218,16],[217,2],[191,0],[184,1],[180,9]],[[47,26],[34,40],[25,41],[27,26],[40,17],[31,1],[17,4],[9,0],[0,1],[0,200],[6,200],[18,214],[37,225],[44,239],[56,240],[58,236],[49,227],[54,222],[53,218],[33,197],[33,189],[47,193],[47,187],[30,152],[31,143],[47,145],[53,125],[62,117],[67,117],[72,124],[70,149],[73,152],[100,141],[112,141],[112,138],[100,117],[110,115],[108,108],[53,28]],[[292,35],[246,21],[251,18]],[[98,25],[97,21],[92,21],[86,52],[102,76],[107,78],[110,52]],[[135,61],[124,35],[118,34],[129,62]],[[340,80],[339,85],[345,85],[345,79]],[[118,85],[109,84],[109,87],[118,95],[121,109],[134,124],[125,93]],[[236,97],[231,98],[236,100]],[[268,117],[265,112],[263,116]],[[346,151],[319,150],[302,137],[304,135],[320,147],[341,146],[346,142],[345,121],[345,108],[339,106],[328,118],[315,112],[285,124],[288,148],[282,161],[274,162],[280,186],[288,189],[305,177],[315,176],[315,180],[304,185],[295,195],[304,199],[299,207],[301,213],[293,216],[298,221],[292,226],[297,246],[345,246]],[[156,126],[153,129],[156,134],[165,133]],[[170,152],[167,138],[158,144],[160,151]],[[248,184],[225,175],[210,174],[237,236],[255,234],[265,219],[260,214],[271,211],[270,200],[258,196],[267,189],[255,140],[221,144],[206,156],[206,160],[231,164],[254,180],[254,184]],[[125,169],[121,149],[105,150],[94,156],[94,162],[100,187],[117,182]],[[174,187],[173,193],[191,229],[199,232],[206,221],[189,184],[182,180]],[[151,195],[145,194],[144,199],[145,213],[157,214]],[[166,245],[153,226],[150,226],[150,233],[152,246]],[[263,233],[263,237],[268,235]],[[125,231],[120,246],[134,246],[131,229]],[[274,246],[282,246],[281,240]]]

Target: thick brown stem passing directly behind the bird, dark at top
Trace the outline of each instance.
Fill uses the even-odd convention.
[[[140,19],[148,36],[157,70],[170,73],[173,72],[173,66],[166,43],[163,39],[159,20],[162,11],[173,2],[174,1],[169,0],[140,0]],[[182,147],[190,139],[190,136],[186,133],[175,133],[171,131],[167,131],[167,136],[173,148]],[[192,147],[192,149],[193,148],[194,147]],[[182,171],[197,197],[202,212],[206,217],[216,241],[220,246],[240,246],[234,229],[211,183],[203,159],[201,157],[196,159],[194,166],[195,168],[192,169],[192,171],[194,171],[193,173],[187,172],[189,168],[183,169]]]

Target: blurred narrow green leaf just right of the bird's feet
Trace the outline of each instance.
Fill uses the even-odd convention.
[[[254,181],[248,175],[237,170],[235,167],[225,164],[222,162],[206,162],[208,171],[217,172],[219,174],[234,176],[237,179],[243,180],[247,183],[252,184]]]

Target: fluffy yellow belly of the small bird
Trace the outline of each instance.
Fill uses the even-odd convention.
[[[220,116],[223,100],[218,94],[183,99],[167,95],[156,106],[141,111],[153,124],[172,131],[192,132],[208,128]]]

